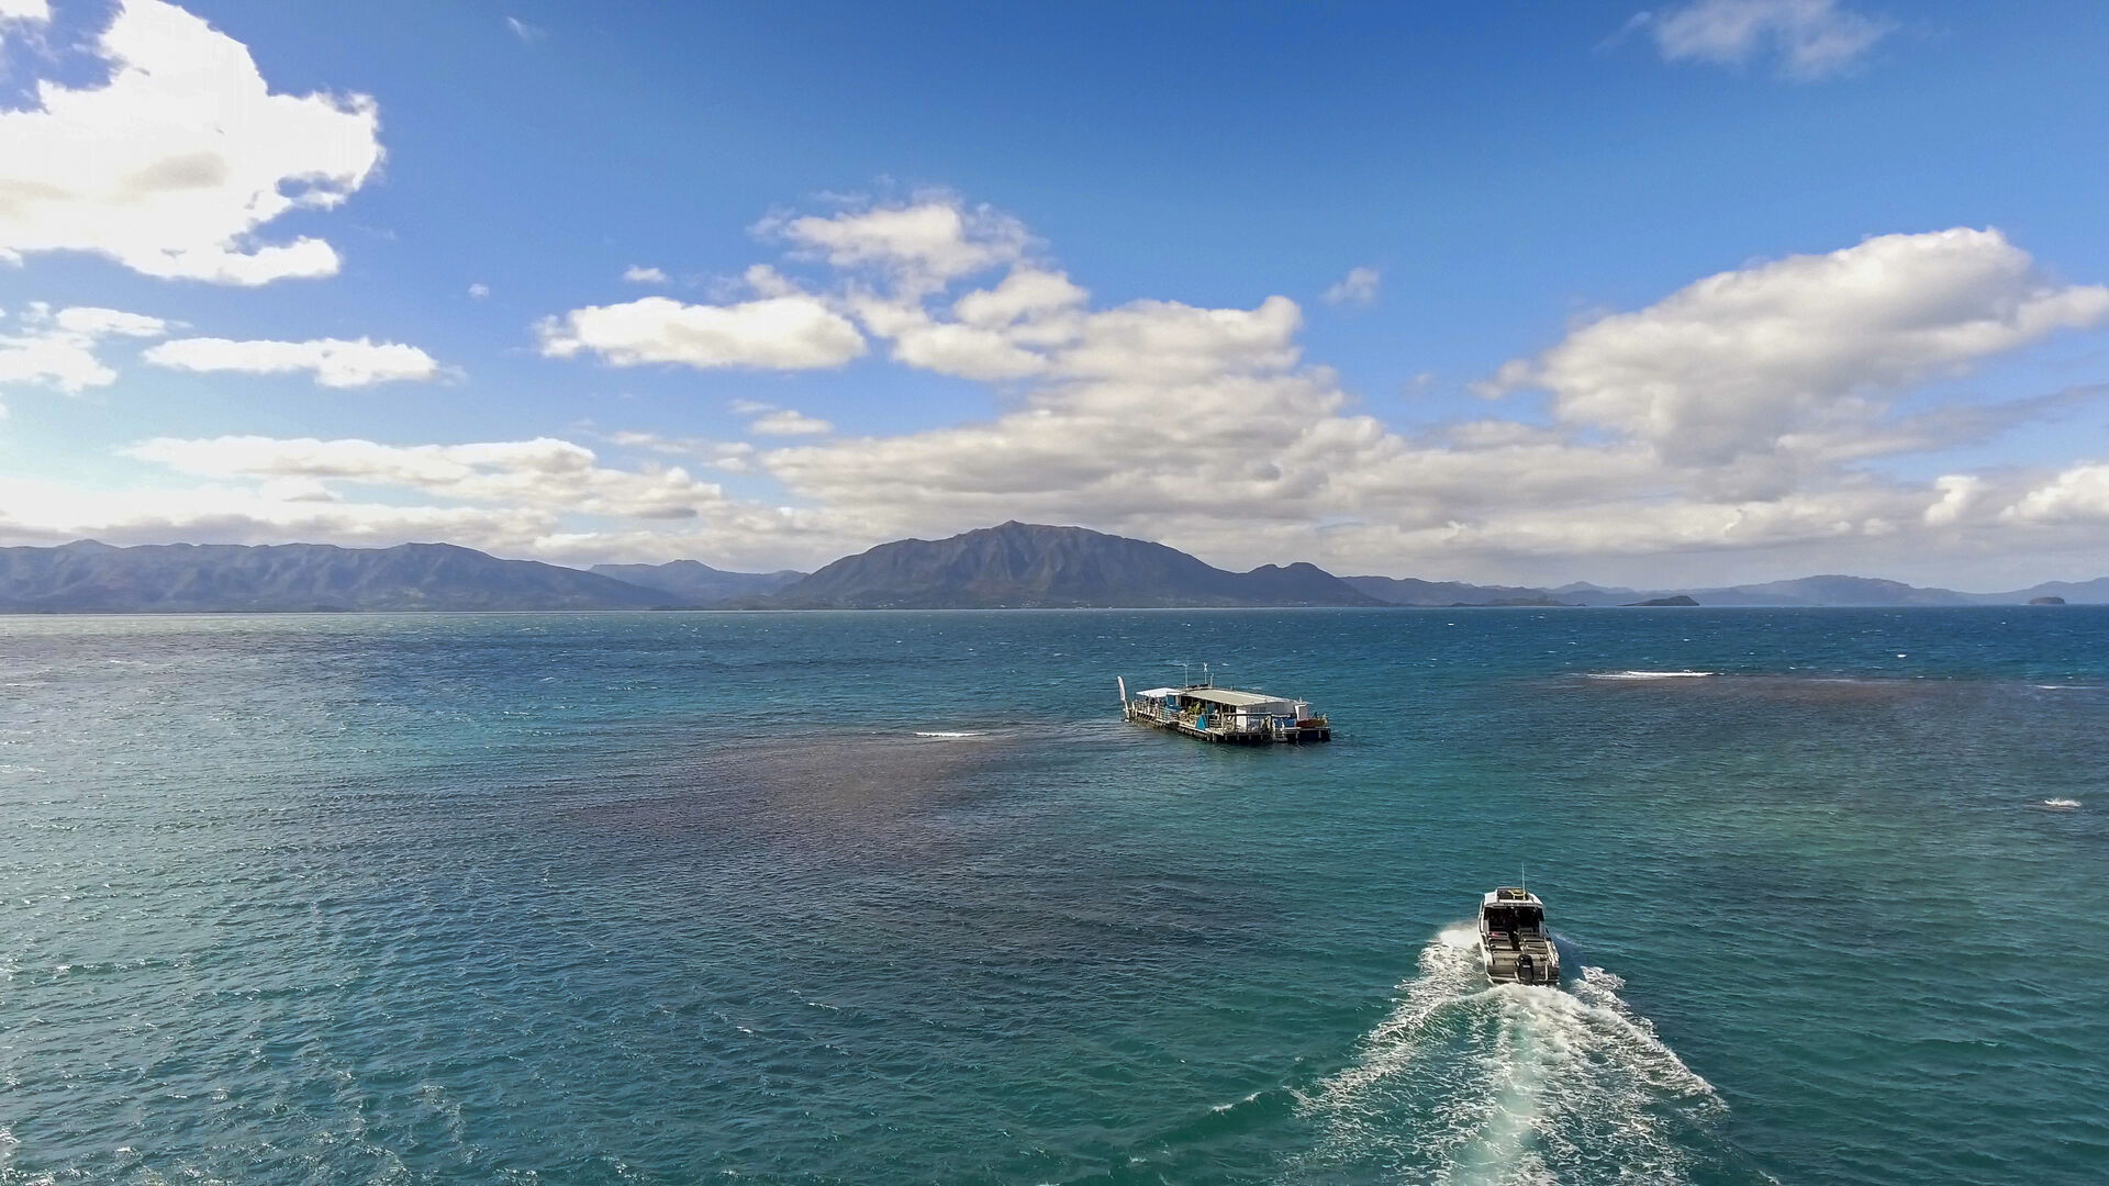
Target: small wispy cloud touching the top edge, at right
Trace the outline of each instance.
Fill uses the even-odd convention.
[[[1852,68],[1896,32],[1896,21],[1837,0],[1696,0],[1637,21],[1666,61],[1742,65],[1778,55],[1780,70],[1801,80]]]

